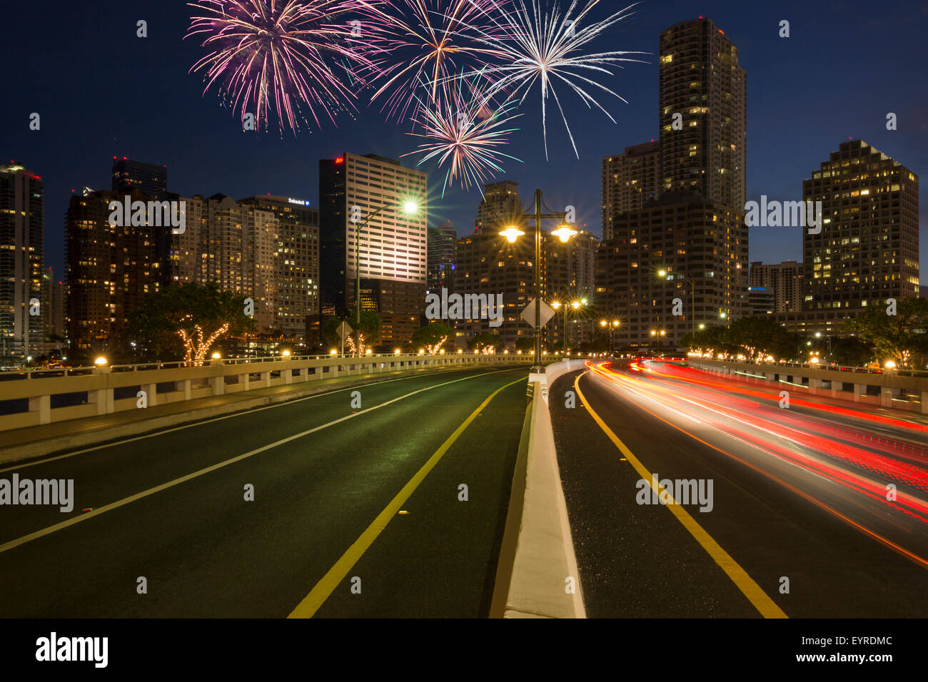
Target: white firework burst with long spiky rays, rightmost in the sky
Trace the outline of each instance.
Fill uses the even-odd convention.
[[[599,0],[588,0],[583,11],[574,15],[579,0],[572,0],[565,13],[561,14],[559,9],[554,8],[546,14],[539,0],[531,0],[531,9],[525,5],[524,0],[513,0],[512,10],[505,14],[503,19],[496,18],[499,16],[498,11],[492,15],[485,15],[491,18],[493,24],[491,30],[483,28],[480,24],[467,26],[482,45],[494,50],[505,62],[502,65],[490,65],[480,71],[495,81],[487,93],[488,96],[492,97],[500,91],[511,91],[512,96],[518,98],[519,103],[522,104],[532,90],[535,81],[540,84],[541,120],[546,158],[548,157],[548,97],[553,97],[558,105],[567,135],[574,147],[574,154],[577,158],[580,156],[574,142],[574,135],[567,122],[567,116],[561,106],[561,98],[558,97],[555,89],[556,83],[566,84],[588,108],[596,107],[612,122],[615,122],[612,114],[604,109],[587,90],[594,92],[599,90],[618,97],[626,104],[627,101],[610,88],[594,81],[592,76],[598,73],[613,75],[608,67],[621,68],[620,62],[645,63],[641,59],[625,57],[626,55],[646,54],[642,52],[589,53],[585,51],[590,42],[612,25],[631,16],[628,10],[635,6],[627,6],[606,19],[587,21],[586,15],[598,4]],[[494,5],[498,10],[497,0],[494,0]]]

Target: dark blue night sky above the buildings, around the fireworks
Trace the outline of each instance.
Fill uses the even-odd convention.
[[[599,5],[597,18],[625,6],[617,0]],[[715,20],[738,46],[748,74],[749,199],[800,199],[802,181],[850,137],[926,178],[928,2],[645,0],[636,9],[593,45],[651,53],[643,57],[647,64],[627,64],[602,81],[628,100],[600,97],[617,123],[574,97],[564,100],[579,160],[562,124],[549,119],[546,161],[539,97],[523,105],[522,130],[506,151],[524,163],[510,161],[496,179],[521,183],[526,203],[541,187],[549,206],[573,204],[578,222],[599,234],[601,158],[657,137],[658,35],[700,15]],[[179,0],[41,0],[5,7],[0,158],[20,161],[45,180],[46,260],[58,277],[71,189],[109,188],[114,155],[167,165],[169,188],[182,194],[270,192],[315,206],[318,159],[344,150],[397,158],[415,148],[407,125],[383,122],[379,108],[365,109],[363,99],[356,120],[344,117],[338,127],[295,139],[281,138],[276,129],[241,132],[238,117],[219,106],[214,92],[203,96],[200,75],[188,73],[201,56],[198,42],[182,40],[189,14]],[[138,19],[148,21],[148,38],[135,37]],[[788,39],[778,36],[781,19],[791,23]],[[42,116],[40,131],[29,130],[32,111]],[[895,132],[885,128],[889,111],[898,116]],[[469,232],[480,192],[455,189],[442,199],[444,173],[422,168],[433,185],[430,224],[451,218],[458,234]],[[923,182],[922,270],[928,273],[926,191]],[[801,260],[801,244],[799,228],[754,228],[751,258]]]

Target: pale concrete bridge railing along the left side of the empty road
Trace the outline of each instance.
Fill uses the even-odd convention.
[[[202,367],[172,362],[14,370],[0,376],[0,431],[347,375],[520,362],[525,358],[518,354],[275,355],[216,359]]]

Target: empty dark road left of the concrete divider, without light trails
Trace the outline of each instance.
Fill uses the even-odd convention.
[[[67,513],[0,507],[0,616],[485,616],[526,372],[382,381],[0,470],[75,491]]]

